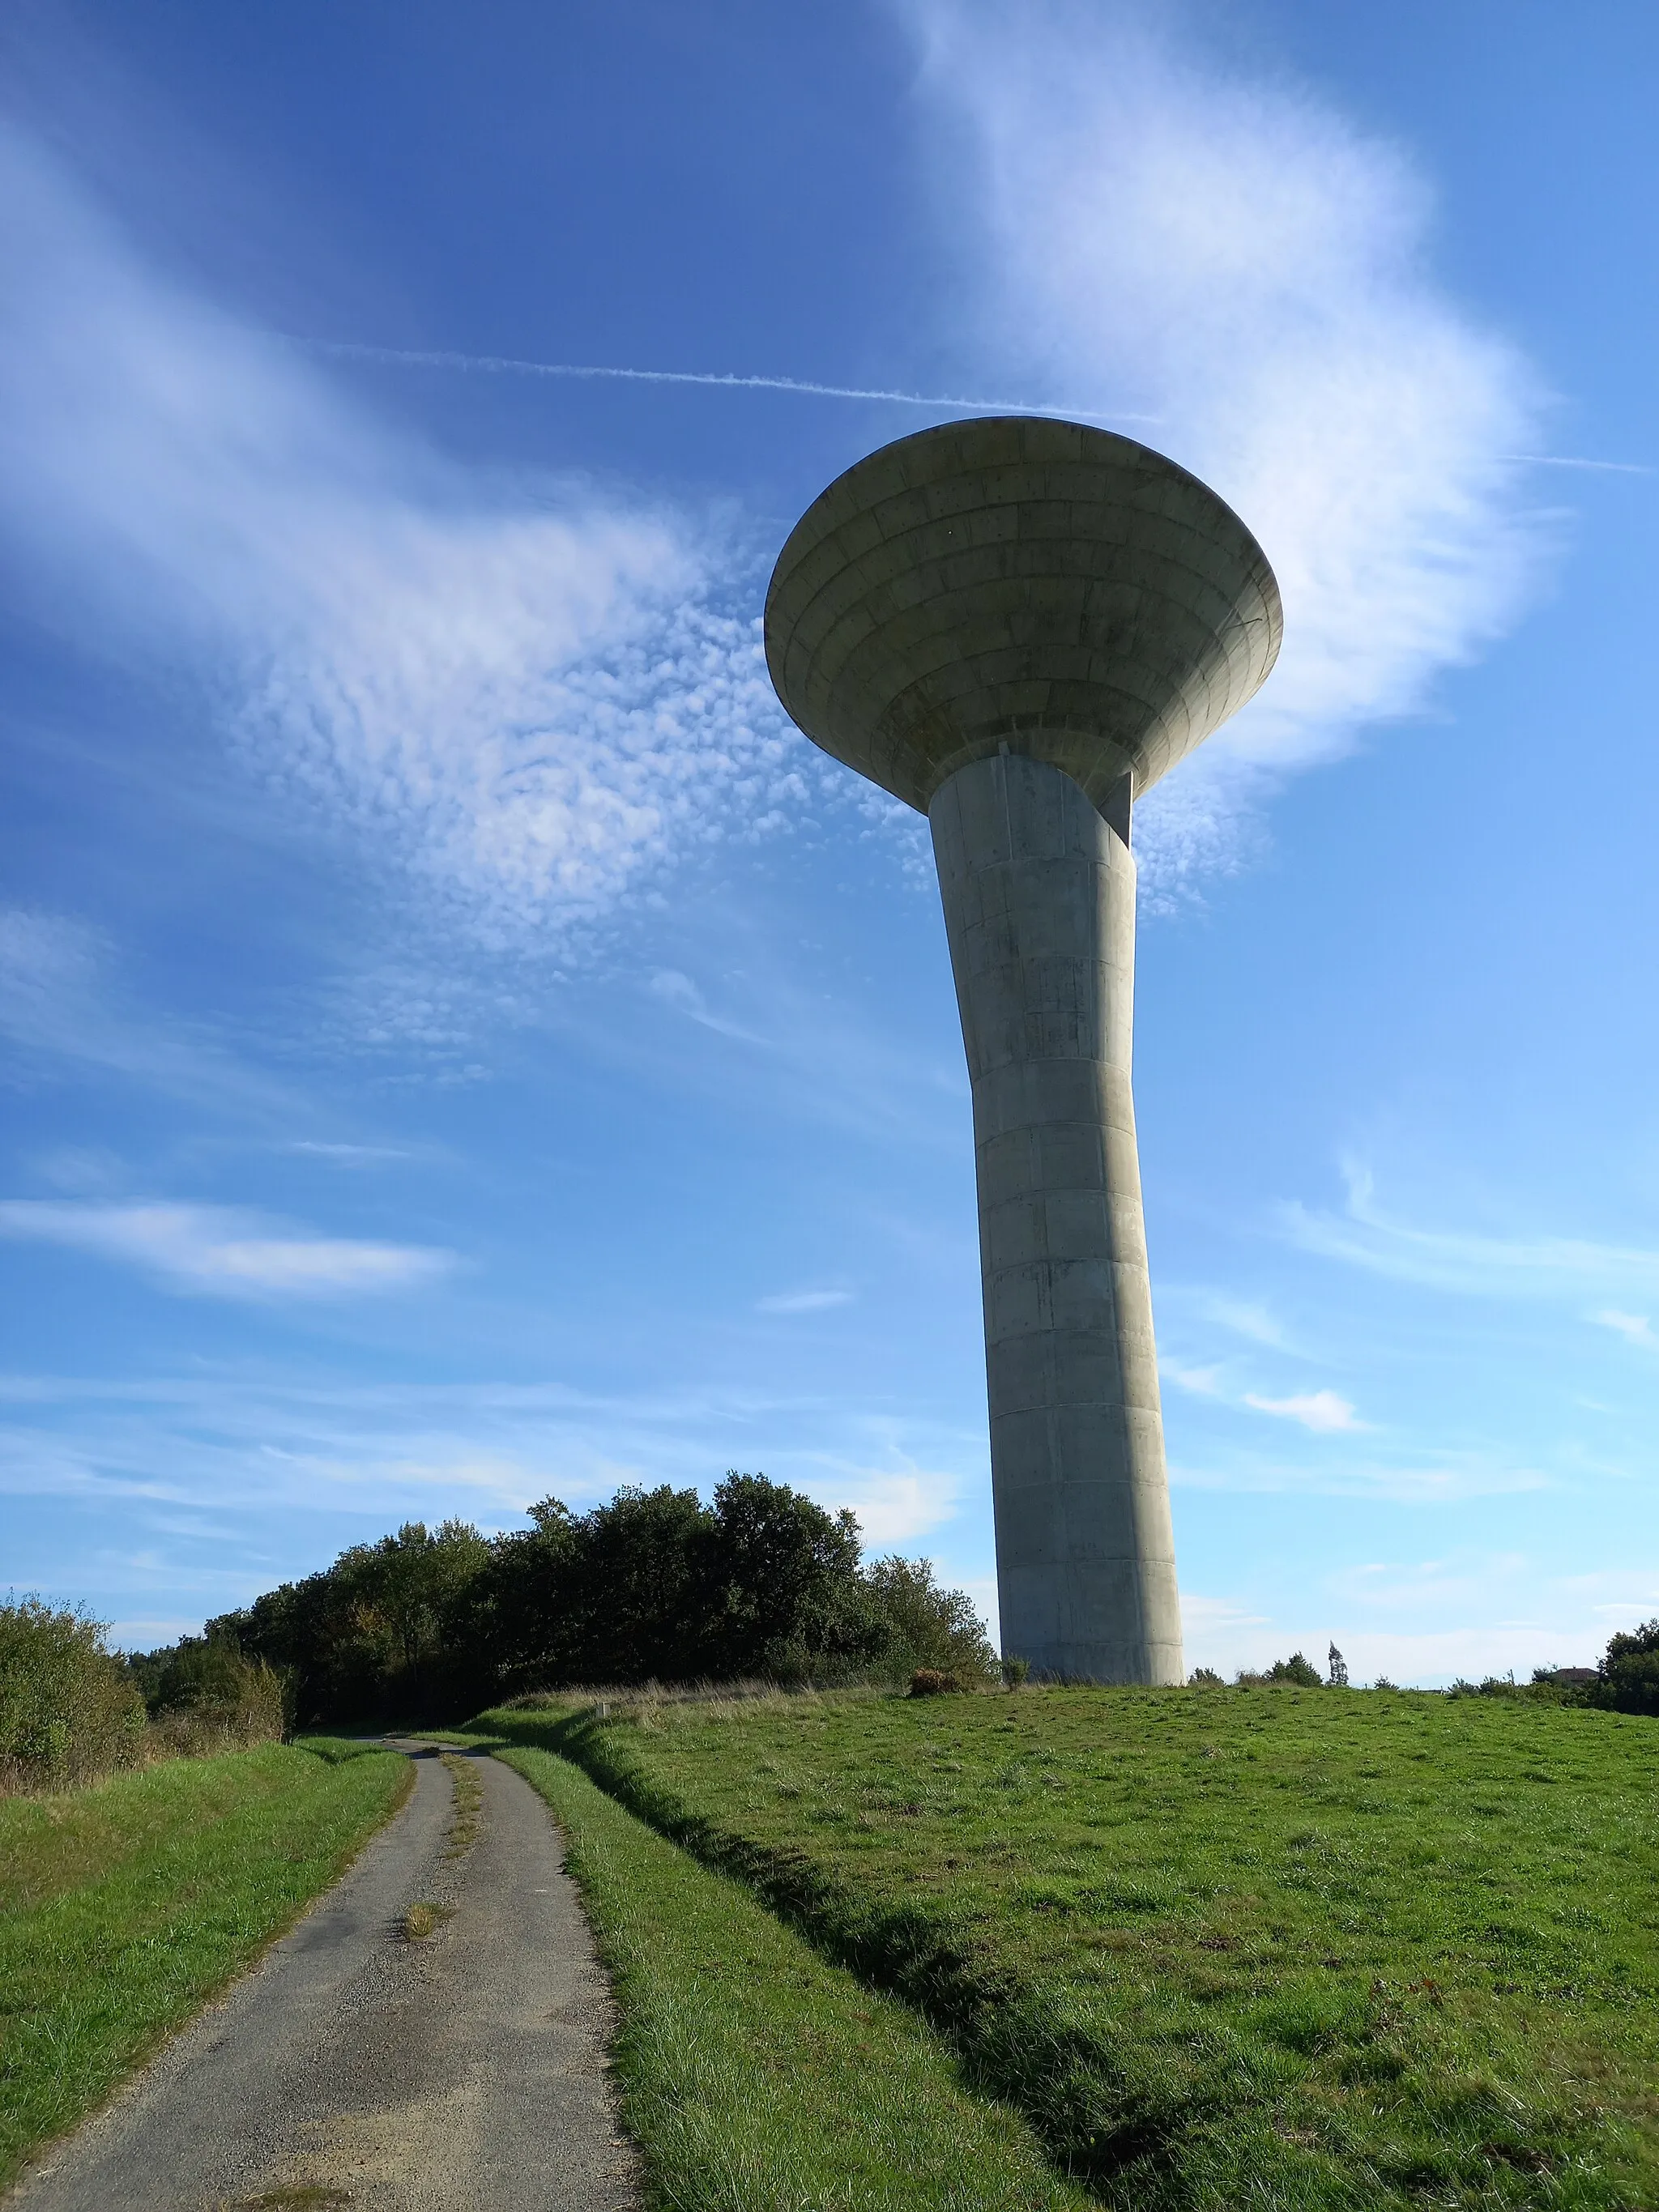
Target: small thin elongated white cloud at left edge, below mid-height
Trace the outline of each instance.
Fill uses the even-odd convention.
[[[292,1237],[230,1206],[0,1201],[0,1237],[128,1261],[170,1290],[219,1298],[343,1298],[414,1290],[453,1265],[425,1245]]]

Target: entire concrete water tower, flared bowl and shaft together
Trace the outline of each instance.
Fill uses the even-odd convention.
[[[1261,686],[1279,591],[1164,456],[1046,418],[883,447],[801,518],[765,650],[929,814],[973,1082],[1002,1648],[1181,1681],[1130,1095],[1133,801]]]

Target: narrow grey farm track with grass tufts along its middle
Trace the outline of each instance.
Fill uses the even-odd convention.
[[[445,1761],[398,1747],[403,1812],[7,2212],[637,2203],[608,1995],[546,1807],[493,1759],[458,1761],[456,1792]]]

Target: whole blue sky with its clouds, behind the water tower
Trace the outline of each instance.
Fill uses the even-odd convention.
[[[1190,1663],[1659,1610],[1655,66],[1542,0],[13,9],[0,1584],[155,1644],[743,1467],[993,1604],[925,825],[759,657],[816,491],[989,400],[1285,591],[1137,816]]]

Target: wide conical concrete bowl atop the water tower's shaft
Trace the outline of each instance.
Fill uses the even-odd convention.
[[[765,595],[794,721],[922,812],[1002,743],[1095,805],[1121,776],[1139,799],[1261,686],[1281,628],[1261,546],[1197,476],[1031,416],[869,453]]]

